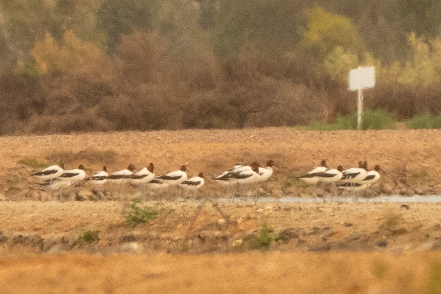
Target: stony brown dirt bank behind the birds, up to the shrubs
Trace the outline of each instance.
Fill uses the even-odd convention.
[[[310,195],[308,185],[295,179],[322,159],[330,167],[350,168],[358,160],[369,167],[379,164],[376,192],[392,195],[440,194],[439,153],[441,130],[298,131],[294,128],[243,130],[184,130],[111,132],[72,135],[17,136],[0,138],[0,199],[47,200],[29,174],[45,164],[63,161],[66,168],[84,164],[88,173],[106,165],[110,171],[130,163],[143,167],[153,162],[156,174],[186,164],[191,174],[204,172],[207,183],[198,197],[225,196],[225,189],[210,178],[236,163],[268,159],[276,162],[263,194],[280,197]],[[79,187],[78,189],[80,189]],[[85,186],[80,199],[97,196]],[[108,188],[110,189],[110,188]],[[132,197],[135,190],[127,190]],[[120,199],[113,194],[108,199]],[[133,196],[134,197],[134,196]]]

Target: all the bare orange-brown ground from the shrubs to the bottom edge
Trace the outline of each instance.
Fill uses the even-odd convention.
[[[154,162],[207,178],[236,162],[273,159],[266,195],[309,197],[295,180],[321,159],[367,160],[387,172],[381,194],[438,194],[437,130],[310,132],[291,128],[0,138],[0,289],[3,293],[440,293],[441,205],[219,203],[163,198],[127,225],[136,189],[97,200],[50,201],[28,175],[63,160],[89,172]],[[35,162],[29,163],[32,159]],[[200,200],[224,197],[207,180]],[[172,197],[168,197],[172,199]],[[89,200],[89,201],[88,201]]]

